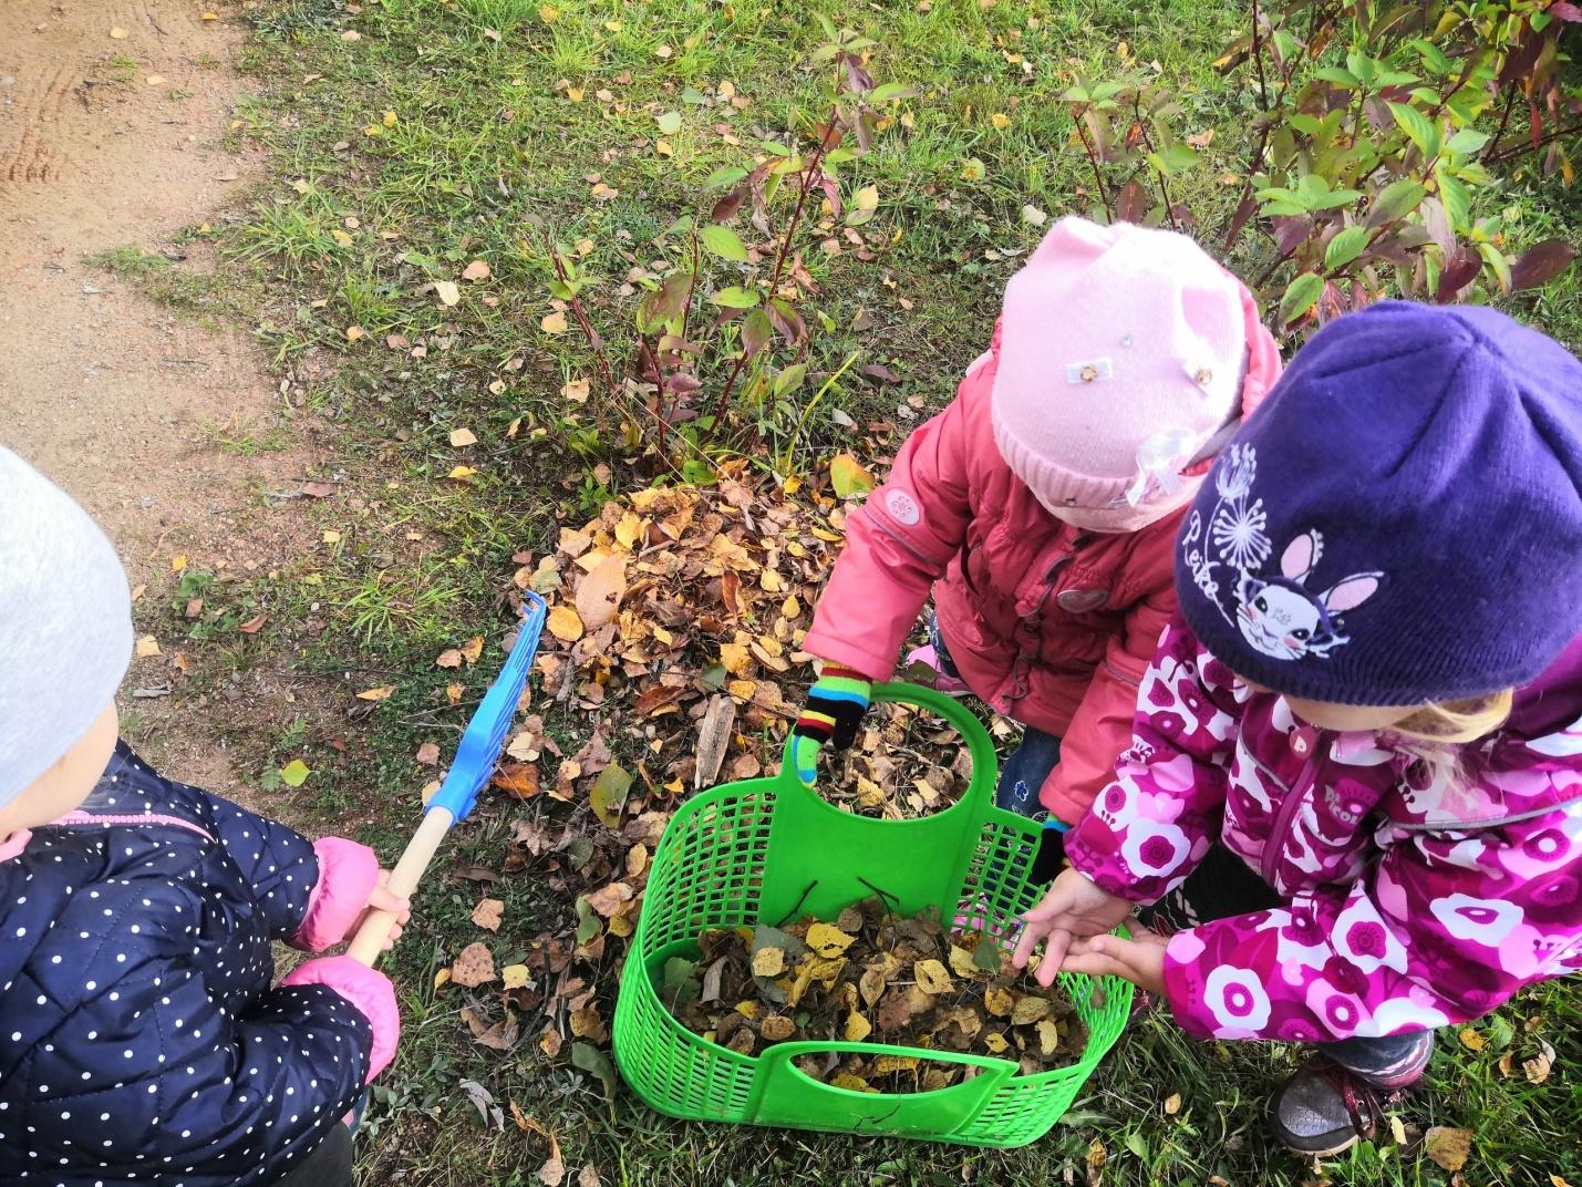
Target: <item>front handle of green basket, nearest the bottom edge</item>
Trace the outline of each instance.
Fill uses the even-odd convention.
[[[793,1060],[807,1054],[900,1056],[935,1064],[965,1064],[981,1075],[932,1092],[856,1092],[821,1084]],[[929,1051],[884,1043],[778,1043],[758,1057],[758,1076],[748,1102],[756,1124],[793,1124],[940,1138],[978,1117],[1016,1065],[990,1056]]]

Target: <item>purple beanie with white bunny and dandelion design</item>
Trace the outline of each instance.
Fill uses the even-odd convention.
[[[1527,684],[1582,633],[1582,362],[1490,309],[1338,318],[1220,454],[1175,584],[1204,646],[1288,696]]]

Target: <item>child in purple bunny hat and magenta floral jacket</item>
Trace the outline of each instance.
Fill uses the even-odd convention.
[[[1291,1149],[1582,970],[1582,362],[1487,309],[1321,331],[1199,491],[1136,741],[1027,916],[1191,1035],[1316,1043]],[[1171,939],[1107,932],[1156,904]]]

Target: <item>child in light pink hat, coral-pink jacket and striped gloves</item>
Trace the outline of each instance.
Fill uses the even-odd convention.
[[[823,666],[802,780],[851,744],[932,590],[938,666],[1027,726],[1000,806],[1076,821],[1131,741],[1185,505],[1278,374],[1247,288],[1190,239],[1060,220],[993,347],[848,521],[804,644]]]

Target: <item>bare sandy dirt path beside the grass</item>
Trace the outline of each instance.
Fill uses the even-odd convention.
[[[304,530],[264,491],[294,486],[301,446],[225,451],[271,426],[278,394],[250,339],[204,328],[84,258],[160,252],[218,210],[256,160],[220,139],[244,82],[234,8],[199,0],[0,3],[0,442],[112,533],[133,584],[169,584],[171,556],[258,563],[259,533]],[[0,492],[3,502],[3,492]],[[158,673],[141,662],[133,682]],[[169,711],[153,701],[155,723]],[[190,780],[234,790],[199,726],[150,749]]]

